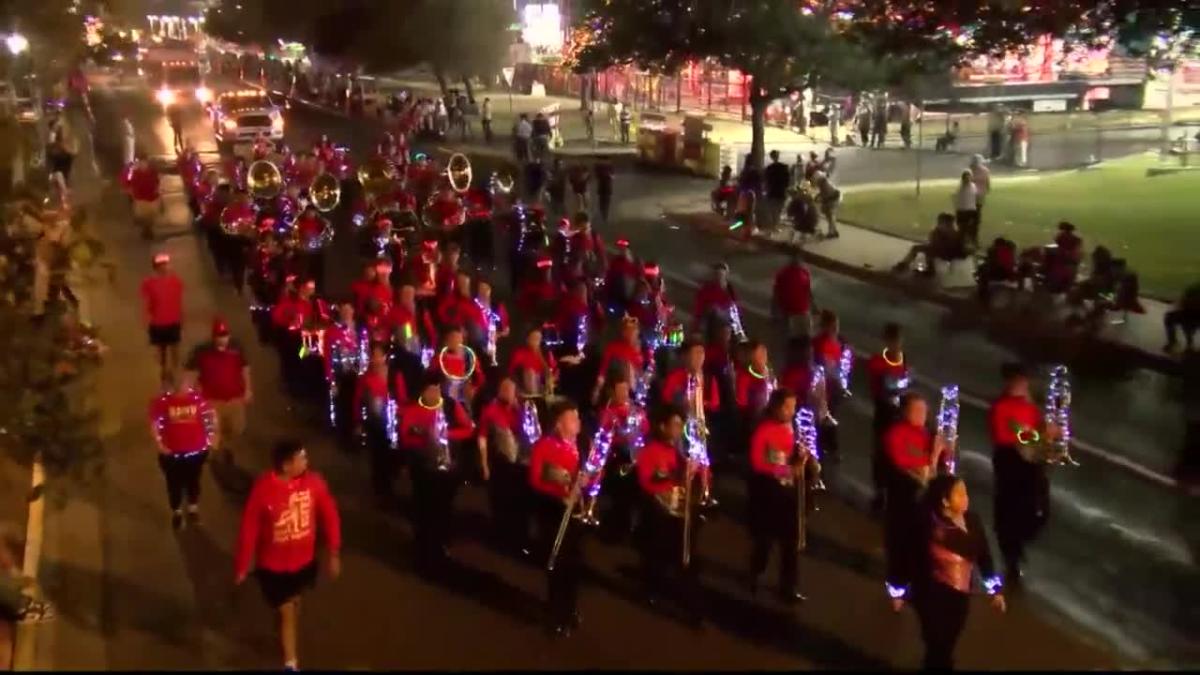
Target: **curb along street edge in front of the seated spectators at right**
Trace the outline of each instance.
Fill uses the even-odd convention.
[[[707,213],[666,213],[664,214],[667,220],[677,222],[683,226],[694,227],[700,232],[706,234],[713,234],[718,237],[725,237],[727,239],[733,239],[742,243],[754,244],[757,246],[764,246],[781,253],[792,253],[797,251],[797,246],[791,244],[785,244],[782,241],[775,241],[763,235],[754,235],[751,239],[746,240],[740,237],[728,234],[727,229],[722,227],[720,231],[712,225],[709,214]],[[714,216],[715,217],[715,216]],[[845,222],[845,221],[844,221]],[[853,225],[846,222],[846,225]],[[857,227],[857,226],[856,226]],[[870,229],[864,228],[864,229]],[[919,281],[913,281],[902,276],[896,276],[888,271],[877,271],[874,269],[866,269],[862,265],[854,265],[845,261],[832,258],[829,256],[823,256],[821,253],[815,253],[803,246],[799,247],[800,257],[816,267],[822,269],[828,269],[830,271],[844,274],[858,279],[859,281],[865,281],[875,286],[886,286],[889,288],[895,288],[902,291],[905,294],[913,297],[918,300],[925,300],[929,303],[938,304],[962,315],[971,316],[978,323],[986,328],[998,328],[1003,327],[1004,322],[1000,321],[997,316],[992,312],[979,311],[979,305],[971,298],[959,298],[941,289],[934,288],[928,283],[922,283]],[[1142,368],[1150,368],[1159,372],[1164,372],[1171,376],[1182,376],[1183,365],[1176,359],[1165,357],[1156,352],[1147,352],[1139,347],[1127,345],[1124,342],[1117,342],[1114,340],[1108,340],[1103,338],[1096,338],[1093,335],[1039,335],[1040,340],[1050,344],[1055,344],[1061,347],[1069,347],[1072,345],[1079,345],[1085,347],[1099,347],[1106,354],[1114,358],[1123,358],[1133,362]]]

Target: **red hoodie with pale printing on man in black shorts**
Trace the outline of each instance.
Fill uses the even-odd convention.
[[[325,480],[307,471],[290,480],[274,471],[262,474],[250,491],[241,515],[234,572],[240,578],[257,558],[269,572],[296,572],[312,563],[317,522],[325,548],[342,548],[342,521]]]

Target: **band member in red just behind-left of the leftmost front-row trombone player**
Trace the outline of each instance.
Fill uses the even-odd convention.
[[[540,424],[538,431],[540,432]],[[529,448],[535,441],[521,428],[521,404],[511,377],[500,380],[496,398],[479,416],[479,466],[487,483],[498,543],[529,555]]]

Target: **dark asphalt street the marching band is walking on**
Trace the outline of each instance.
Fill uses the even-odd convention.
[[[133,119],[144,151],[172,155],[166,120],[143,95],[97,91],[95,98],[96,153],[104,175],[116,169],[122,115]],[[378,136],[370,124],[304,107],[293,107],[287,118],[287,141],[293,148],[306,148],[328,133],[361,157]],[[215,150],[199,112],[188,120],[185,136],[202,151]],[[911,159],[899,151],[845,155],[840,167],[845,184],[911,175],[902,171],[912,166]],[[952,160],[962,163],[961,156],[943,157],[940,175],[953,171]],[[841,414],[845,459],[829,472],[830,497],[822,502],[810,551],[800,563],[802,579],[820,584],[804,583],[810,601],[794,617],[770,601],[751,599],[744,589],[749,544],[739,522],[744,498],[737,479],[719,484],[722,513],[701,537],[710,616],[703,633],[640,599],[631,577],[636,561],[631,550],[589,540],[589,574],[581,598],[584,627],[568,641],[546,640],[540,627],[540,569],[488,546],[484,494],[475,488],[463,490],[457,501],[461,531],[452,550],[458,561],[452,581],[434,586],[418,580],[408,568],[407,518],[373,507],[366,498],[362,458],[336,449],[319,430],[314,411],[294,410],[278,393],[274,353],[254,344],[245,300],[217,282],[203,244],[185,225],[178,179],[170,180],[168,192],[176,192],[168,213],[172,228],[162,233],[160,245],[172,252],[187,285],[185,346],[206,338],[215,312],[229,319],[254,372],[250,436],[236,470],[215,467],[209,473],[203,527],[173,538],[145,429],[145,404],[156,388],[156,375],[134,300],[150,250],[132,227],[124,227],[127,215],[121,196],[104,189],[98,197],[102,229],[121,274],[115,293],[91,293],[95,322],[113,347],[100,394],[106,401],[112,454],[101,485],[85,498],[100,530],[80,532],[85,520],[64,519],[56,533],[48,532],[48,538],[59,542],[94,538],[101,566],[72,565],[65,550],[49,551],[47,586],[59,603],[62,626],[46,649],[48,665],[277,665],[270,617],[257,590],[232,587],[230,551],[251,477],[247,472],[265,466],[266,448],[281,434],[295,434],[310,443],[314,467],[325,473],[340,501],[346,530],[342,579],[323,581],[305,603],[300,650],[307,668],[878,669],[919,663],[916,620],[911,611],[896,616],[887,607],[878,527],[864,512],[870,432],[865,394],[852,399]],[[605,223],[601,231],[610,240],[619,232],[638,255],[656,258],[680,310],[690,309],[692,291],[709,263],[727,259],[749,315],[749,333],[772,335],[766,307],[782,257],[701,238],[660,217],[665,204],[707,195],[706,186],[696,179],[623,171],[616,185],[614,223]],[[335,297],[358,274],[356,261],[348,238],[335,240],[328,269]],[[954,317],[943,307],[818,269],[812,276],[817,301],[839,311],[844,334],[857,347],[874,350],[875,335],[886,321],[905,327],[908,359],[922,376],[922,388],[935,400],[936,389],[929,384],[946,382],[959,383],[977,402],[990,399],[998,387],[1000,364],[1018,357],[1003,336],[955,330]],[[781,347],[772,344],[776,359]],[[856,390],[863,392],[862,369],[857,375]],[[1080,372],[1074,386],[1079,438],[1154,471],[1169,471],[1182,440],[1176,383],[1135,370]],[[985,410],[967,404],[960,422],[960,473],[971,489],[972,508],[990,522]],[[1110,461],[1082,453],[1076,456],[1082,466],[1052,472],[1054,514],[1031,551],[1026,591],[1012,599],[1004,616],[990,611],[983,598],[973,602],[959,665],[1200,664],[1194,639],[1200,633],[1196,500]],[[402,491],[407,494],[407,485]],[[67,514],[74,518],[85,510],[73,506]],[[79,593],[72,592],[77,589]],[[102,640],[89,637],[97,631]]]

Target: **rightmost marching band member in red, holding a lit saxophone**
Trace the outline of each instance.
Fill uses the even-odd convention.
[[[1050,479],[1038,447],[1056,440],[1057,426],[1030,396],[1030,376],[1018,364],[1003,369],[1004,389],[991,405],[991,468],[996,480],[996,543],[1004,558],[1004,583],[1019,584],[1025,546],[1050,518]]]

